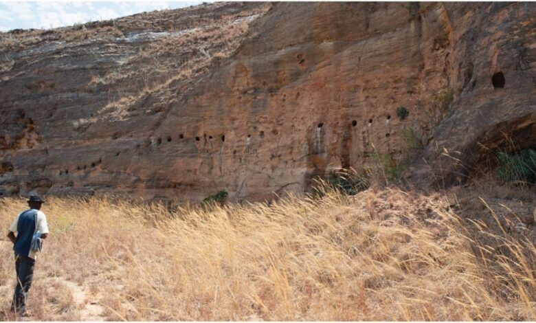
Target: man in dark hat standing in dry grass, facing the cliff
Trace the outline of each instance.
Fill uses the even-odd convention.
[[[8,238],[13,243],[15,252],[16,269],[16,287],[11,311],[19,315],[25,314],[27,293],[34,276],[37,252],[30,247],[32,237],[37,231],[41,232],[42,239],[46,238],[48,234],[47,218],[43,212],[39,211],[43,203],[40,197],[30,197],[28,200],[30,210],[25,210],[16,216],[8,233]]]

